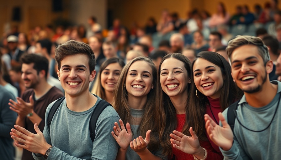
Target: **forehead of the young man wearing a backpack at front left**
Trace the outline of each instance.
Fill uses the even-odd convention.
[[[61,66],[68,65],[71,67],[84,65],[87,68],[89,68],[89,60],[88,56],[86,54],[75,54],[75,55],[69,55],[66,56],[61,60]]]

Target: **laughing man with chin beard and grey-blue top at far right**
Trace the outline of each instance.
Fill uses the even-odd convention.
[[[207,133],[225,159],[279,159],[281,82],[269,81],[273,62],[268,47],[258,37],[237,36],[226,52],[244,96],[219,113],[220,126],[206,114]]]

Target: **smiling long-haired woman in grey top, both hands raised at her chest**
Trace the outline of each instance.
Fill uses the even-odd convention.
[[[166,159],[155,125],[159,122],[156,82],[157,70],[149,58],[134,58],[122,69],[114,90],[115,110],[121,118],[121,128],[115,122],[112,131],[120,146],[116,159]]]

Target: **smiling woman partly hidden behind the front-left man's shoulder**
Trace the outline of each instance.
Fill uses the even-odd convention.
[[[98,72],[98,78],[95,81],[94,87],[92,89],[93,94],[106,100],[111,105],[113,105],[113,89],[115,83],[119,78],[121,69],[125,66],[125,63],[120,58],[109,58],[104,61],[100,66]]]

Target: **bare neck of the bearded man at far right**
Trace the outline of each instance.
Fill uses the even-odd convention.
[[[255,108],[268,105],[277,93],[278,86],[267,81],[262,85],[262,90],[257,93],[245,93],[247,103]],[[262,98],[261,98],[262,97]]]

